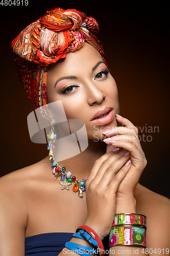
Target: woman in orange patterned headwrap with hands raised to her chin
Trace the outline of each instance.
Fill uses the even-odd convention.
[[[61,190],[63,184],[59,184],[52,179],[53,168],[48,157],[35,165],[3,177],[1,179],[1,233],[3,235],[5,233],[5,236],[2,239],[1,253],[2,255],[11,255],[12,252],[13,255],[24,255],[26,237],[28,253],[29,243],[32,243],[30,239],[33,239],[37,244],[32,244],[31,249],[34,252],[38,250],[39,255],[43,255],[41,254],[42,245],[37,239],[40,238],[43,241],[43,246],[47,246],[48,233],[51,233],[50,236],[52,237],[50,239],[54,238],[53,236],[56,239],[56,234],[57,238],[60,236],[59,232],[65,233],[65,236],[67,236],[62,241],[62,250],[65,242],[71,240],[72,233],[82,224],[92,228],[103,240],[109,234],[116,214],[133,212],[133,214],[147,216],[147,248],[155,249],[155,252],[160,249],[161,253],[167,252],[166,254],[168,254],[165,249],[168,248],[169,223],[167,216],[169,200],[138,183],[147,161],[137,137],[136,127],[128,119],[118,115],[118,96],[115,81],[109,73],[100,42],[93,34],[88,32],[91,30],[91,33],[96,34],[98,25],[94,19],[92,19],[92,22],[91,19],[88,19],[89,23],[85,23],[85,21],[87,22],[86,17],[82,13],[76,12],[76,10],[68,10],[67,12],[70,12],[69,17],[74,20],[69,28],[74,25],[73,29],[75,30],[73,31],[81,31],[86,38],[85,42],[81,41],[84,36],[81,34],[82,37],[78,38],[77,46],[77,41],[74,45],[74,37],[72,36],[72,41],[69,41],[72,42],[72,45],[68,46],[70,48],[67,55],[64,55],[64,51],[60,51],[60,55],[51,53],[53,50],[49,46],[56,47],[56,45],[49,45],[44,39],[47,33],[55,31],[50,15],[54,18],[53,15],[61,14],[58,23],[61,22],[63,17],[64,20],[67,20],[68,13],[59,9],[48,12],[41,17],[40,23],[36,24],[34,51],[27,48],[27,44],[30,42],[29,39],[31,38],[33,41],[33,37],[29,37],[32,33],[29,30],[30,27],[27,28],[27,33],[25,33],[26,48],[22,49],[23,52],[19,48],[21,38],[23,38],[22,34],[21,37],[18,36],[13,41],[12,47],[15,53],[20,56],[20,58],[15,57],[20,79],[34,105],[38,107],[40,103],[45,105],[45,103],[61,100],[67,119],[81,119],[84,121],[89,140],[87,149],[72,158],[61,160],[59,165],[61,167],[65,166],[80,181],[83,178],[88,178],[86,194],[84,193],[83,198],[79,198],[71,189],[67,191],[62,187],[63,190]],[[64,23],[63,19],[62,22]],[[81,27],[82,22],[85,25]],[[39,27],[41,24],[46,27]],[[49,27],[49,24],[53,26]],[[47,28],[47,33],[44,32],[45,28]],[[43,33],[37,32],[38,29]],[[68,29],[68,31],[72,30]],[[66,30],[66,33],[68,31]],[[43,49],[43,54],[46,53],[45,56],[38,51],[35,54],[35,49],[40,49],[38,48],[37,35],[41,37],[41,50]],[[77,36],[76,32],[75,34],[72,32],[72,35],[75,38]],[[65,36],[65,39],[68,39],[68,37]],[[58,56],[60,58],[56,61],[55,58]],[[28,59],[24,60],[25,57]],[[23,65],[23,63],[29,63],[28,65],[32,63],[31,61],[25,62],[28,60],[38,65],[43,63],[43,67],[46,64],[47,66],[50,65],[48,71],[42,70],[41,66],[37,66],[36,72],[35,69],[32,70],[36,77],[33,75],[30,77],[28,72],[30,66],[26,70],[27,66]],[[27,75],[25,75],[25,72]],[[35,81],[39,85],[41,83],[42,94],[39,94]],[[27,87],[28,84],[30,87]],[[32,90],[33,86],[35,90]],[[102,117],[103,115],[104,117]],[[124,127],[117,127],[117,122],[124,125]],[[98,136],[102,140],[105,139],[105,143],[101,140],[98,143],[94,141],[94,124],[100,127]],[[81,188],[79,187],[79,191]],[[162,219],[160,223],[157,223],[160,214]],[[157,223],[156,226],[155,223]],[[167,234],[166,238],[163,237],[164,233]],[[56,241],[54,246],[56,246]],[[72,238],[71,241],[89,246],[87,241],[81,241],[77,238]],[[36,249],[34,246],[38,248]],[[118,250],[125,250],[127,248],[125,247],[125,245],[118,245],[114,247],[114,250],[119,253]],[[128,249],[131,254],[135,253],[133,246],[128,247]],[[143,254],[143,248],[135,247],[135,249],[138,250],[139,255]],[[145,252],[147,251],[144,250]],[[50,255],[50,251],[44,253]],[[62,253],[69,253],[69,250],[63,250]],[[124,253],[122,252],[122,254]]]

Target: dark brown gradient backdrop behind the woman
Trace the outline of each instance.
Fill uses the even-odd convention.
[[[169,198],[168,1],[73,2],[29,0],[28,6],[0,7],[1,176],[47,155],[46,145],[34,144],[29,137],[27,116],[34,107],[19,83],[11,41],[46,10],[76,8],[98,20],[118,86],[120,115],[141,129],[146,124],[147,128],[159,126],[159,133],[143,132],[152,141],[141,141],[148,165],[140,183]]]

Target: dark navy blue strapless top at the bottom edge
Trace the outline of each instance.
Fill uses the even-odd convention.
[[[57,256],[72,239],[73,233],[42,233],[25,240],[26,256]],[[106,242],[106,245],[105,245]],[[108,249],[108,237],[103,240],[105,250]],[[105,253],[105,255],[108,253]],[[72,254],[73,255],[73,254]]]

